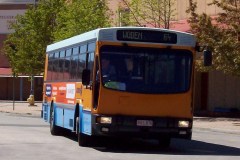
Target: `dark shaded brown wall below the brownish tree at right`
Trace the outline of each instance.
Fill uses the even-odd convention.
[[[240,110],[240,77],[220,71],[209,73],[208,110],[213,111],[215,107]]]

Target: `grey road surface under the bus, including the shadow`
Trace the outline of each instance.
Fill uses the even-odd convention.
[[[1,160],[194,160],[239,159],[240,134],[194,128],[193,140],[174,139],[160,149],[154,141],[99,142],[79,147],[74,134],[52,136],[42,119],[0,113]]]

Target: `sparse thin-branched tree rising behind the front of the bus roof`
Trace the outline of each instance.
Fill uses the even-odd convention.
[[[123,6],[119,12],[127,10],[129,15],[120,16],[126,25],[151,26],[156,28],[170,28],[170,21],[174,16],[174,0],[121,0]],[[123,8],[123,9],[122,9]],[[126,15],[126,14],[125,14]]]

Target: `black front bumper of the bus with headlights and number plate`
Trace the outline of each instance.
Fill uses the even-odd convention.
[[[191,139],[192,119],[104,116],[92,116],[92,134],[96,136],[140,137],[158,139],[161,137]],[[111,118],[111,119],[109,119]],[[188,122],[188,126],[179,126],[179,122]]]

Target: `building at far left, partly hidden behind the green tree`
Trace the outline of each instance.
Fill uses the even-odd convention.
[[[31,83],[28,76],[13,78],[8,59],[4,56],[3,42],[13,30],[9,22],[14,22],[18,14],[24,14],[27,5],[34,4],[34,0],[0,0],[0,100],[25,101],[30,95]],[[34,95],[36,100],[42,99],[43,79],[38,76],[34,80]]]

